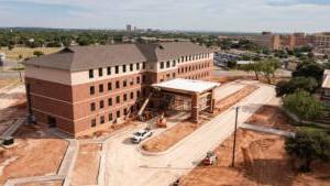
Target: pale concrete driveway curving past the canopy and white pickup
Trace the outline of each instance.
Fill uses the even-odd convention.
[[[274,97],[273,87],[261,85],[253,95],[238,103],[242,106],[239,123],[243,123]],[[106,155],[106,185],[169,185],[194,168],[209,150],[215,149],[233,132],[234,114],[234,109],[229,109],[202,125],[168,154],[160,156],[144,156],[138,151],[136,145],[128,141],[134,130],[114,136],[107,145],[109,149]]]

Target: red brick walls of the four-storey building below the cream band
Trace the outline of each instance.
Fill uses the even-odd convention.
[[[162,73],[136,73],[76,86],[29,77],[25,83],[30,86],[32,112],[37,123],[48,124],[52,117],[58,129],[80,135],[112,124],[130,109],[139,109],[151,84],[173,78],[206,79],[211,75],[212,65],[212,61],[182,63]]]

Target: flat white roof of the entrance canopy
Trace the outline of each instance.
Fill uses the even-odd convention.
[[[160,84],[153,84],[152,86],[155,88],[160,88],[161,90],[167,90],[167,91],[184,92],[184,94],[201,94],[217,86],[220,86],[220,84],[205,81],[205,80],[176,78]]]

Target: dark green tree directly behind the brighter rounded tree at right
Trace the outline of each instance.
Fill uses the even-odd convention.
[[[318,81],[312,77],[294,77],[290,80],[282,80],[276,85],[276,96],[294,94],[296,90],[301,89],[314,94],[318,88]]]

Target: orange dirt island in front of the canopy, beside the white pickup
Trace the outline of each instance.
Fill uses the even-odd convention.
[[[142,147],[148,152],[163,152],[183,140],[185,136],[193,133],[200,127],[200,123],[193,123],[190,121],[183,121],[169,128],[162,134],[152,138],[143,143]]]

